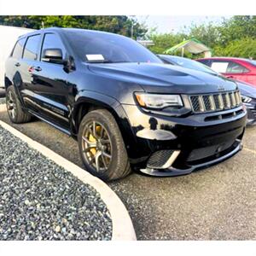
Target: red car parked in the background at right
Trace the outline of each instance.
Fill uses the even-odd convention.
[[[256,61],[231,57],[214,57],[198,59],[225,77],[244,81],[256,86]]]

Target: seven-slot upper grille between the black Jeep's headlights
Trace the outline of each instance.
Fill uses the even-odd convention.
[[[192,109],[195,113],[220,111],[241,106],[239,91],[223,92],[189,96]]]

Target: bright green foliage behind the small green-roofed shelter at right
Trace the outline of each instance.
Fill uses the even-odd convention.
[[[256,59],[256,16],[233,16],[215,25],[212,22],[196,26],[192,24],[189,32],[177,34],[153,34],[150,37],[154,46],[150,47],[155,53],[163,53],[183,39],[196,38],[213,50],[213,55],[253,57]],[[180,55],[180,52],[175,53]],[[203,55],[185,56],[199,58]]]

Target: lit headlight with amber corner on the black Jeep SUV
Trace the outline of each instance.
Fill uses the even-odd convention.
[[[183,107],[183,101],[179,95],[136,93],[135,96],[143,108]]]

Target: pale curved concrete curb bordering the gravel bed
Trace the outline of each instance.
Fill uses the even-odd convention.
[[[0,105],[1,108],[1,105]],[[0,109],[0,112],[2,109]],[[65,168],[68,172],[71,172],[75,177],[78,177],[83,183],[90,184],[96,191],[98,191],[102,197],[102,201],[105,202],[110,212],[113,223],[113,241],[133,241],[137,240],[133,224],[129,213],[127,212],[125,205],[120,201],[119,197],[108,187],[106,183],[103,183],[101,179],[92,176],[89,172],[85,172],[84,169],[76,166],[69,160],[63,158],[61,155],[56,154],[54,151],[45,147],[44,145],[32,140],[20,131],[17,131],[12,126],[4,123],[0,120],[0,125],[7,131],[11,132],[15,137],[20,138],[27,143],[31,148],[38,150],[41,154],[44,154],[47,158],[54,161],[57,165]]]

